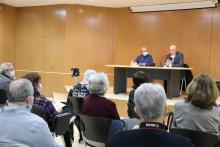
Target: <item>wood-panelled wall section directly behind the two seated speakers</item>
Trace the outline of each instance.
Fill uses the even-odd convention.
[[[176,44],[193,73],[220,79],[220,5],[213,9],[130,13],[118,9],[114,64],[127,64],[146,46],[157,65]],[[122,56],[124,58],[122,58]]]

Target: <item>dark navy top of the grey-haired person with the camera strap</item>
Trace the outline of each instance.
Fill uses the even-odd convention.
[[[136,129],[114,135],[106,147],[194,147],[190,140],[161,130]]]

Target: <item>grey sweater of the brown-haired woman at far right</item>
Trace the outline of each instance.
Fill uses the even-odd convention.
[[[219,134],[220,109],[201,109],[190,102],[178,102],[174,105],[174,126],[182,129]]]

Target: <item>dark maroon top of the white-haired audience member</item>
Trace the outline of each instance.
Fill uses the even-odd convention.
[[[90,95],[84,98],[82,114],[120,119],[115,103],[98,95]]]

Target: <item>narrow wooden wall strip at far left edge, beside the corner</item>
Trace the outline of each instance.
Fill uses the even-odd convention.
[[[0,7],[0,63],[14,63],[16,8],[1,4]]]

